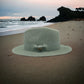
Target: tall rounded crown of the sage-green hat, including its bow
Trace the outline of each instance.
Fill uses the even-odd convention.
[[[24,49],[53,51],[60,48],[59,31],[51,28],[31,28],[24,33]]]

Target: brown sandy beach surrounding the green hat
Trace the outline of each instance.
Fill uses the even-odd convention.
[[[66,55],[25,57],[12,48],[24,43],[24,34],[0,36],[0,84],[84,84],[84,21],[59,22],[61,44],[72,47]]]

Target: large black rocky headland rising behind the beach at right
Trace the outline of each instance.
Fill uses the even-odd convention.
[[[61,21],[68,21],[68,20],[73,20],[77,18],[84,18],[84,11],[72,11],[69,8],[66,7],[60,7],[57,9],[59,11],[59,15],[47,22],[61,22]]]

